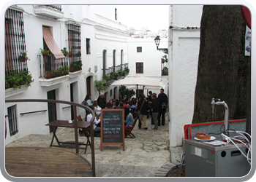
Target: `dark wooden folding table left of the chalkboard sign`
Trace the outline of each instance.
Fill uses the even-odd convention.
[[[77,122],[77,124],[78,124],[78,128],[82,128],[83,133],[87,138],[86,143],[78,142],[78,145],[79,145],[78,149],[85,149],[84,153],[86,154],[87,146],[91,147],[89,130],[86,130],[86,129],[89,129],[90,122]],[[67,121],[67,120],[56,120],[54,122],[45,124],[45,126],[50,126],[53,129],[53,138],[50,142],[50,146],[66,147],[66,148],[69,147],[69,148],[75,149],[75,146],[74,146],[75,141],[61,142],[61,141],[59,141],[59,139],[57,138],[57,135],[56,135],[56,130],[58,129],[58,127],[73,127],[73,128],[75,128],[74,123],[69,124],[69,121]],[[53,145],[54,138],[56,139],[58,145]],[[86,147],[85,148],[80,147],[80,145],[84,145]]]

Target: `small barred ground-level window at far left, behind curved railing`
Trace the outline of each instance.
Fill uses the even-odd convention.
[[[8,111],[10,135],[12,136],[18,132],[16,105],[7,108],[7,111]]]

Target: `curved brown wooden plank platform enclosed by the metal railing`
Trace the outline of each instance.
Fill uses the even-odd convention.
[[[92,177],[86,158],[49,147],[7,147],[5,169],[13,177]]]

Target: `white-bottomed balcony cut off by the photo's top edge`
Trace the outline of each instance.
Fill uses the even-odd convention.
[[[61,5],[37,5],[34,6],[34,13],[43,17],[60,19],[64,17],[64,12],[61,12]]]

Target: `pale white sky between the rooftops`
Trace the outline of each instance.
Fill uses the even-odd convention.
[[[128,28],[148,27],[151,31],[168,30],[168,5],[119,5],[119,9],[119,21]]]

